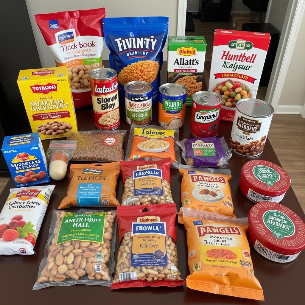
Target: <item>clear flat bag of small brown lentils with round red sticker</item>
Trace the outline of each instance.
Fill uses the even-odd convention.
[[[77,148],[71,161],[122,161],[125,135],[126,130],[70,131],[67,140],[77,141]]]

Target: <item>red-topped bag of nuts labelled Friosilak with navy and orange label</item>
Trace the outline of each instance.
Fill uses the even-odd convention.
[[[160,161],[121,161],[122,206],[174,203],[170,189],[170,158]]]

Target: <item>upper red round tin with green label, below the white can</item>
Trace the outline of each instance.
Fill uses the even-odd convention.
[[[253,202],[280,202],[289,186],[289,175],[282,167],[269,161],[248,161],[240,172],[239,188]]]

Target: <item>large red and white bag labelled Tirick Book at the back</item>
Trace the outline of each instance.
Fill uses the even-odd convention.
[[[68,66],[75,108],[92,105],[89,72],[101,68],[105,8],[35,15],[56,66]]]

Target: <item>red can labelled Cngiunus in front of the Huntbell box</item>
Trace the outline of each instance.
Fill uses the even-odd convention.
[[[191,134],[197,138],[216,137],[222,97],[212,91],[198,91],[193,95]]]

